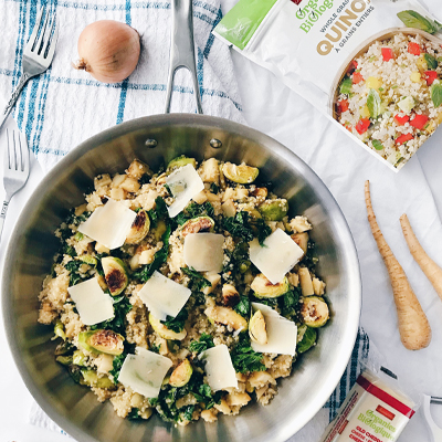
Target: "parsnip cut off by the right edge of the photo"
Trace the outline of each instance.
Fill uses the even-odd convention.
[[[442,269],[427,254],[419,243],[406,213],[400,218],[400,223],[410,253],[442,299]]]

